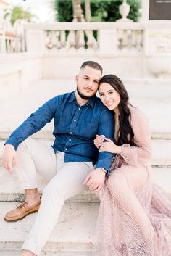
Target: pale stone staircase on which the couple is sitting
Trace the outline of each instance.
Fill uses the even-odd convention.
[[[160,83],[159,83],[160,82]],[[69,86],[69,85],[73,86]],[[169,83],[159,80],[125,80],[130,93],[130,102],[141,107],[149,118],[153,155],[151,160],[154,182],[171,197],[171,89]],[[20,254],[25,237],[36,214],[17,223],[4,221],[5,212],[11,210],[24,198],[17,183],[17,177],[10,175],[1,166],[1,154],[4,141],[9,133],[36,110],[47,99],[65,91],[74,90],[74,82],[65,80],[41,80],[25,91],[0,103],[0,256]],[[52,144],[52,123],[33,138],[43,143]],[[41,181],[41,193],[45,182]],[[62,208],[62,213],[41,256],[90,256],[91,241],[96,225],[99,200],[91,191],[69,199]]]

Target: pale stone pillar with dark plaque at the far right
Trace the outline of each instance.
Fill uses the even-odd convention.
[[[167,78],[171,74],[171,22],[168,21],[165,0],[141,0],[144,26],[144,59],[146,70],[157,78]],[[170,3],[171,6],[171,3]]]

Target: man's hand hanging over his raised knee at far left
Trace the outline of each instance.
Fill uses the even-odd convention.
[[[9,173],[12,173],[12,163],[17,166],[17,152],[14,150],[14,146],[7,144],[2,154],[2,165]]]

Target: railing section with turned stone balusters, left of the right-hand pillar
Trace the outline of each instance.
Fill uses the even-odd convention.
[[[28,52],[143,51],[143,25],[127,22],[57,22],[25,25]]]

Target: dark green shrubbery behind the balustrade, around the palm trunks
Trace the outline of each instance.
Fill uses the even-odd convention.
[[[91,0],[92,21],[114,22],[120,19],[120,4],[122,4],[122,0]],[[140,16],[141,0],[128,0],[128,4],[130,4],[128,18],[137,22]],[[81,1],[81,5],[83,12],[85,12],[85,0]],[[72,22],[72,0],[54,0],[54,9],[56,11],[57,21]]]

